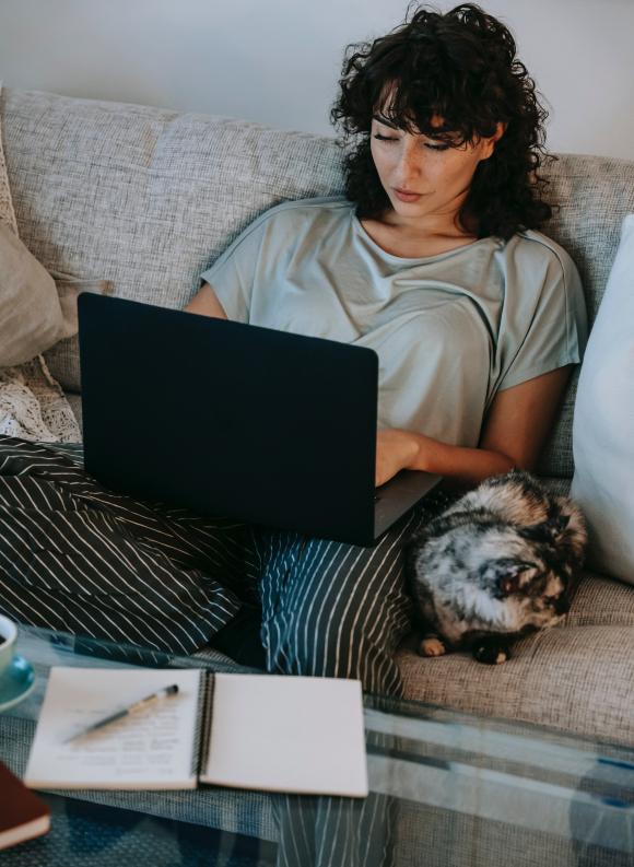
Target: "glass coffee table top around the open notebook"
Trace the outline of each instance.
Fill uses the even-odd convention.
[[[251,670],[218,655],[173,656],[25,626],[16,649],[35,684],[0,713],[0,759],[19,775],[54,665]],[[214,786],[43,793],[51,830],[1,852],[0,864],[634,865],[634,749],[419,702],[364,703],[367,799]]]

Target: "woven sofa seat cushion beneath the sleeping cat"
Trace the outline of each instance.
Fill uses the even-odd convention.
[[[504,665],[463,653],[423,659],[408,640],[398,657],[406,696],[634,745],[633,626],[634,588],[589,573],[563,625],[524,638]]]

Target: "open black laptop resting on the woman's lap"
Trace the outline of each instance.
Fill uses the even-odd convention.
[[[86,471],[203,515],[372,546],[439,476],[375,488],[378,356],[81,293]]]

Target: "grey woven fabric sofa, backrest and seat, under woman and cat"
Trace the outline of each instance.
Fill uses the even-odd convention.
[[[242,120],[5,90],[9,178],[25,244],[50,270],[105,279],[121,297],[183,307],[198,276],[272,204],[342,190],[333,140]],[[560,155],[547,234],[575,259],[594,318],[634,211],[634,163]],[[81,420],[77,338],[46,353]],[[539,473],[566,492],[577,374]],[[399,654],[407,696],[634,743],[634,587],[586,573],[565,624],[504,666]],[[412,645],[413,646],[413,645]]]

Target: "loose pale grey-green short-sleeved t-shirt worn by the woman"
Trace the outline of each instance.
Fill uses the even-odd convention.
[[[378,426],[476,447],[498,390],[578,363],[577,269],[527,231],[410,259],[374,242],[343,197],[284,202],[204,271],[227,317],[374,349]]]

